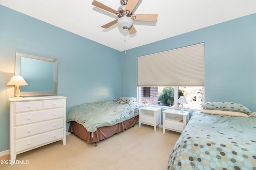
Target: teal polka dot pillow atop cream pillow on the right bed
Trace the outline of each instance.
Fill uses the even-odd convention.
[[[203,109],[238,111],[253,115],[253,112],[247,107],[232,102],[207,102],[204,104]]]

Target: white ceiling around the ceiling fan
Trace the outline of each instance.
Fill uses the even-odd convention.
[[[140,0],[134,14],[158,14],[156,22],[134,21],[130,35],[115,24],[116,16],[92,5],[93,0],[0,0],[0,4],[118,51],[256,13],[256,0]],[[120,0],[98,0],[118,10]]]

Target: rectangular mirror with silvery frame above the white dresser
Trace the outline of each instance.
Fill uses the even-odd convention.
[[[57,95],[58,60],[16,53],[15,75],[28,83],[20,86],[20,96]]]

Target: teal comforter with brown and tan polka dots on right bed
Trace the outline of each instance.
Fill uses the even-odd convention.
[[[167,170],[256,170],[256,117],[194,111]]]

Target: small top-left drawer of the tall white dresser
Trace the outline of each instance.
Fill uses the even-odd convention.
[[[15,112],[40,110],[43,108],[42,101],[16,102]]]

